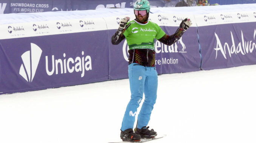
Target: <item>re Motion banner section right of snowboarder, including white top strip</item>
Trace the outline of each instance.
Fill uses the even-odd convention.
[[[201,58],[194,15],[159,13],[151,14],[150,17],[151,21],[158,24],[167,35],[173,35],[185,18],[190,18],[193,24],[179,41],[171,46],[155,41],[158,74],[200,70]]]

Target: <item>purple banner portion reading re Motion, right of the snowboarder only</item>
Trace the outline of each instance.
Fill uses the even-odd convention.
[[[167,35],[173,35],[178,27],[160,26]],[[155,42],[158,74],[199,71],[200,54],[197,28],[190,27],[182,38],[171,46]]]

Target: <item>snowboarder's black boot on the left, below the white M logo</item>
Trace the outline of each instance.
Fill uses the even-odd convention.
[[[121,130],[120,138],[123,141],[140,141],[140,135],[133,132],[133,129]]]

